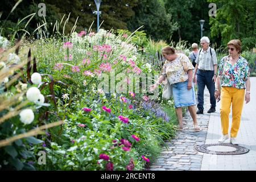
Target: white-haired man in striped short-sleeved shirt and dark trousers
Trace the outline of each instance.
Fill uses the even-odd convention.
[[[193,82],[197,82],[197,114],[204,114],[204,88],[205,85],[210,93],[210,109],[207,113],[214,113],[216,99],[214,97],[217,77],[217,57],[213,48],[209,47],[210,40],[203,36],[200,40],[201,49],[196,57],[196,67]]]

